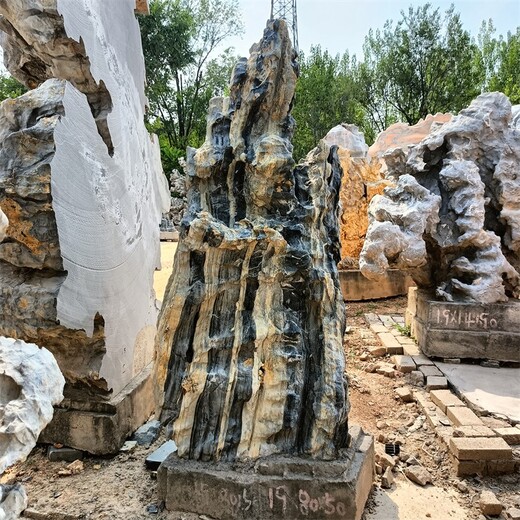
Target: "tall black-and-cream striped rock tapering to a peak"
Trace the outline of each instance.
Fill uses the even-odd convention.
[[[287,27],[269,22],[188,152],[157,336],[161,417],[182,457],[329,459],[348,443],[341,168],[324,142],[295,167],[296,78]]]

